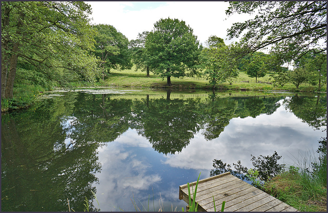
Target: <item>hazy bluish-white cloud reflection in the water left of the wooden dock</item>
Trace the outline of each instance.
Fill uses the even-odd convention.
[[[96,196],[103,211],[119,210],[117,208],[130,209],[132,202],[126,203],[126,198],[133,199],[132,196],[136,199],[144,198],[142,193],[161,181],[159,174],[147,174],[151,164],[144,159],[137,159],[135,153],[125,150],[125,146],[117,141],[101,148],[98,156],[101,173],[97,173],[96,176],[101,187],[96,185]]]

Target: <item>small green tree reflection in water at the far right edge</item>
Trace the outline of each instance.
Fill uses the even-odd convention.
[[[311,127],[319,129],[326,126],[327,123],[327,100],[326,96],[302,97],[293,96],[291,99],[284,101],[286,109],[292,111],[302,122],[309,124]]]

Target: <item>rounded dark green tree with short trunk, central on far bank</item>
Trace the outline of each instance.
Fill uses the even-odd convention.
[[[149,55],[150,68],[161,77],[194,76],[200,54],[199,41],[185,21],[160,19],[146,38],[145,48]]]

